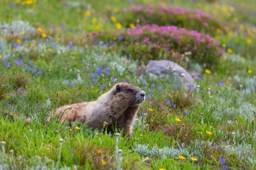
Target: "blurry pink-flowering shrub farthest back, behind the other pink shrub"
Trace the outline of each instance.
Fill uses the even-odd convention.
[[[225,26],[220,20],[209,13],[175,6],[166,7],[162,4],[157,5],[157,7],[140,5],[123,9],[118,20],[128,28],[130,23],[134,23],[137,19],[141,25],[174,25],[211,35],[216,33],[216,29],[222,29],[226,32]]]

